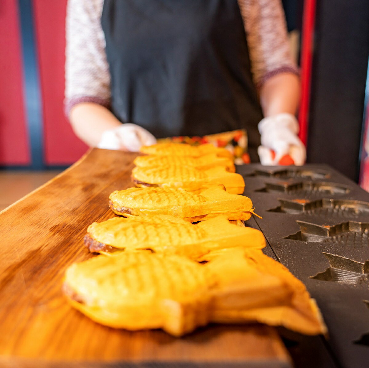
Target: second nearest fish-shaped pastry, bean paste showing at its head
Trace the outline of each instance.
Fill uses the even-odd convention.
[[[114,217],[91,224],[84,241],[90,252],[150,249],[193,259],[219,248],[265,246],[261,231],[238,227],[223,216],[196,225],[168,215]]]

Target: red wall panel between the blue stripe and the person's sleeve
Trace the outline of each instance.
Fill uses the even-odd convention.
[[[66,3],[33,0],[47,165],[71,164],[87,150],[63,112]]]

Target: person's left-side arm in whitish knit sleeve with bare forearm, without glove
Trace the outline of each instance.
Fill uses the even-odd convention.
[[[66,17],[65,113],[76,135],[93,147],[104,131],[121,125],[108,110],[102,8],[103,0],[68,0]]]

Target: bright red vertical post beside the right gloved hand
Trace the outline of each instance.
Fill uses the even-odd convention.
[[[300,139],[307,144],[316,0],[305,0],[301,42]]]

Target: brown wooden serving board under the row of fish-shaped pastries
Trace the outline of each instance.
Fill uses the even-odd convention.
[[[291,367],[268,326],[213,325],[175,338],[101,326],[66,303],[65,269],[92,256],[87,226],[114,216],[108,196],[132,186],[135,157],[92,149],[0,213],[0,367]]]

